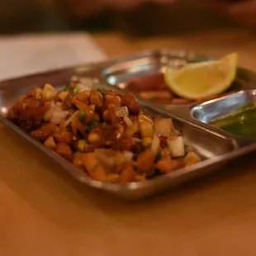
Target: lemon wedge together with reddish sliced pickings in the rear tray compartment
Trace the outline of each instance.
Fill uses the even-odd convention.
[[[220,60],[187,64],[180,69],[167,67],[165,73],[133,78],[126,88],[160,104],[189,104],[215,97],[230,88],[235,79],[238,55]]]

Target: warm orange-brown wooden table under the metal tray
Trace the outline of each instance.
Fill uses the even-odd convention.
[[[206,37],[206,35],[208,37]],[[160,39],[95,36],[110,56],[173,47],[212,56],[233,50],[256,69],[248,31]],[[127,203],[83,187],[0,126],[0,255],[256,255],[254,154],[151,200]]]

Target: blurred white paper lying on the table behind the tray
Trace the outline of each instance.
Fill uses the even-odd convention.
[[[107,59],[86,33],[0,37],[0,80]]]

